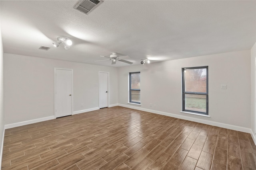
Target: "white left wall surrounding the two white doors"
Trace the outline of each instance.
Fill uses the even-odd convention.
[[[110,73],[110,105],[118,103],[117,68],[4,53],[6,125],[54,116],[54,68],[74,71],[74,112],[98,107],[99,71]]]

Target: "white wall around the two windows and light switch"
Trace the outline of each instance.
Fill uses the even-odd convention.
[[[245,131],[248,131],[251,128],[250,55],[250,50],[246,50],[118,68],[118,103],[120,106],[165,115],[171,113],[171,116],[204,123],[217,122],[223,127],[231,125],[237,130],[244,127]],[[181,69],[192,66],[209,66],[211,117],[180,113]],[[141,72],[141,106],[127,104],[128,73],[136,71]],[[221,84],[227,84],[227,89],[220,89]],[[153,104],[153,107],[150,107],[150,104]]]

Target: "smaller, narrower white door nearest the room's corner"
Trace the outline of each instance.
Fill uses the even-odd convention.
[[[99,107],[108,107],[108,72],[100,72],[99,75]]]

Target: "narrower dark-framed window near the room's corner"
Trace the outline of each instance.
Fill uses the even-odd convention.
[[[130,72],[130,103],[140,104],[140,72]]]

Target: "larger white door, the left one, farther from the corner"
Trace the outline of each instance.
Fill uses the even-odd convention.
[[[72,82],[73,71],[55,70],[55,117],[72,115]]]

